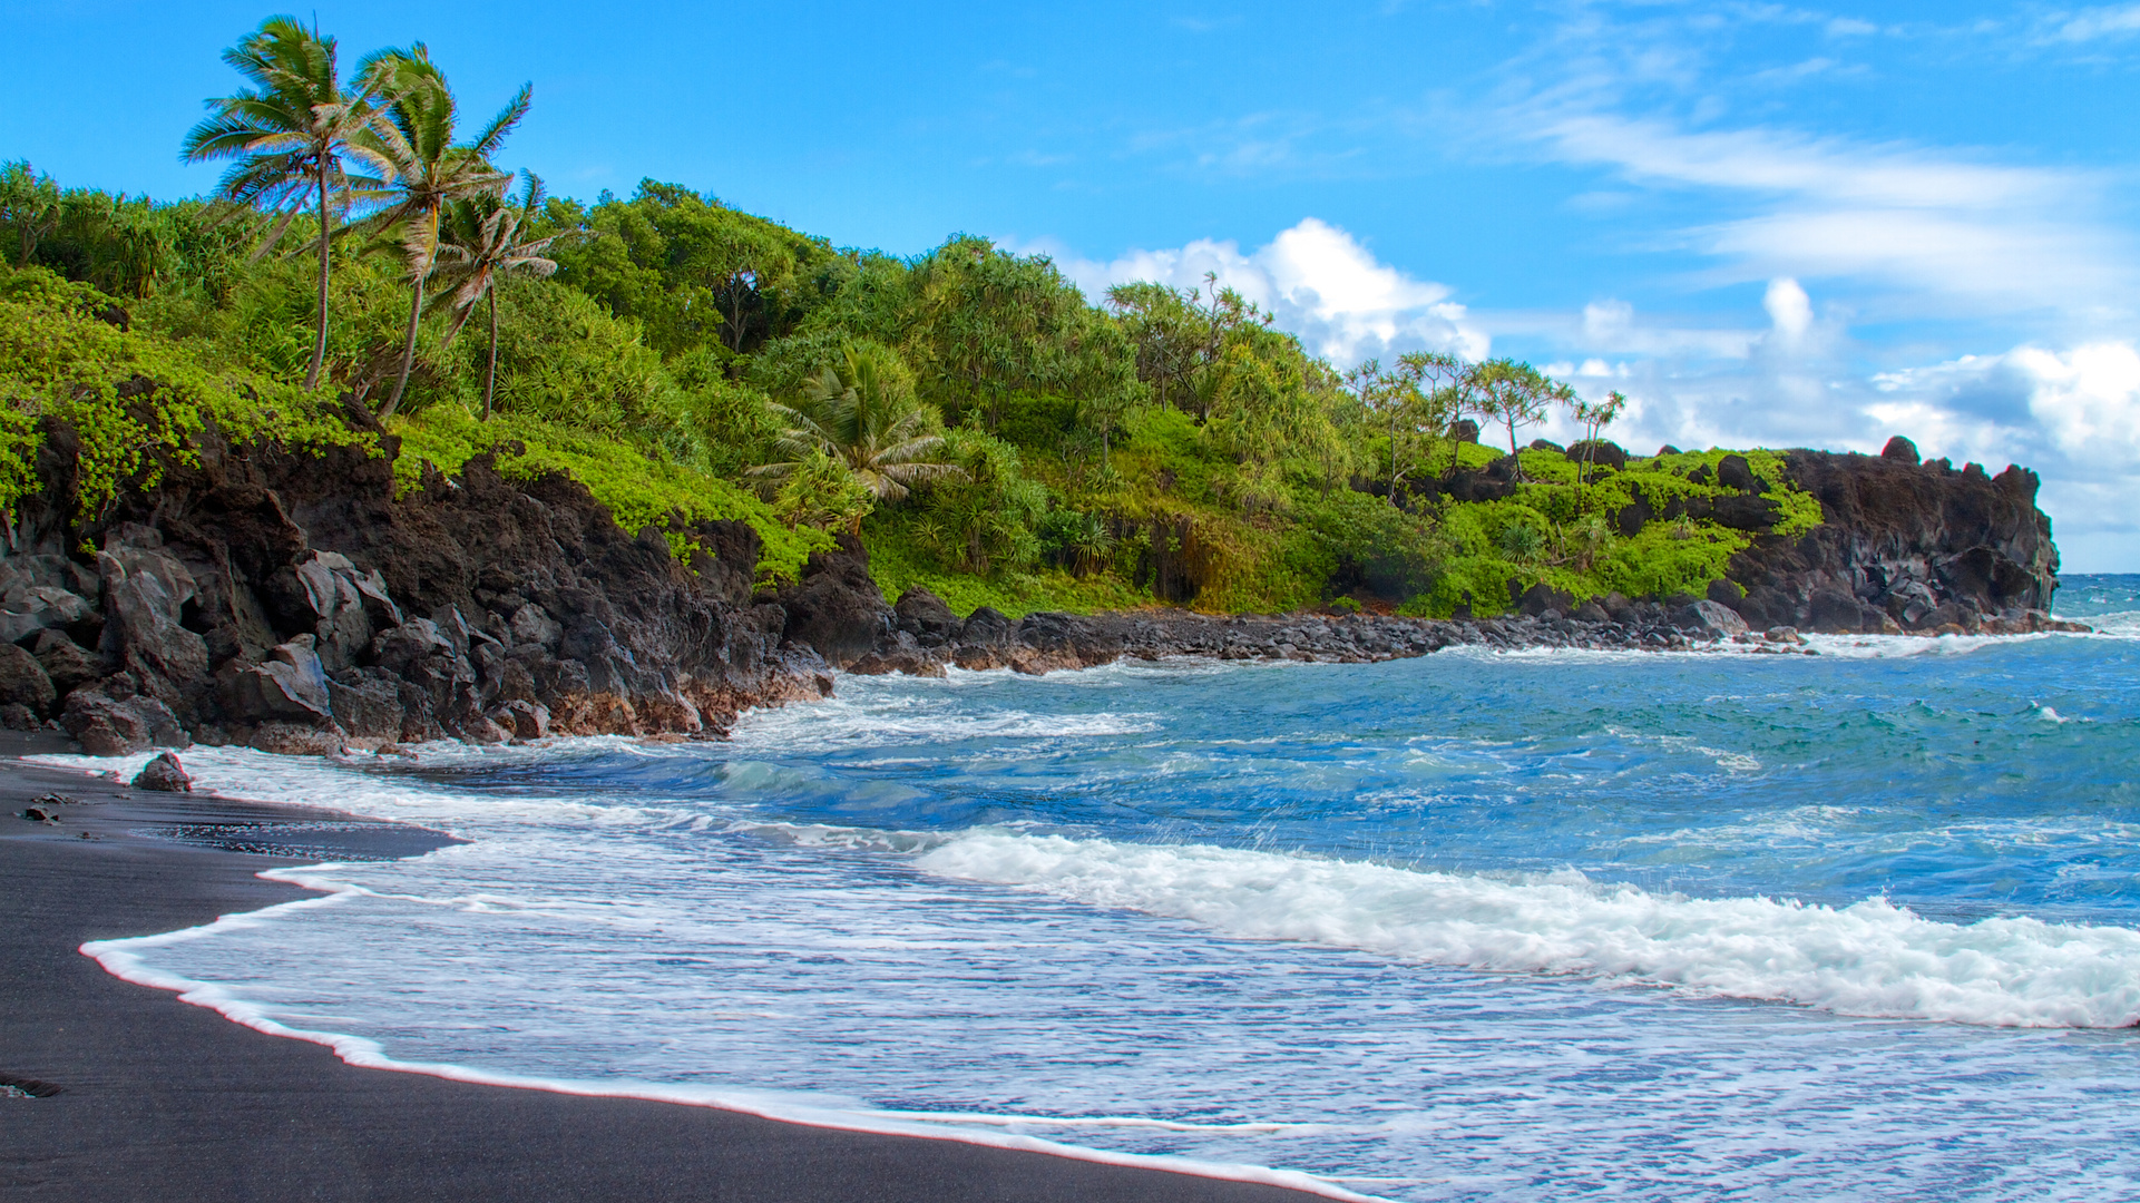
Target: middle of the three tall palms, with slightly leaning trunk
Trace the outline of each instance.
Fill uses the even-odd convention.
[[[357,197],[381,205],[370,218],[374,229],[398,231],[402,257],[409,261],[409,330],[402,334],[400,377],[394,394],[379,409],[392,417],[409,387],[415,364],[415,332],[424,319],[424,285],[439,265],[439,223],[454,201],[496,197],[511,184],[511,171],[490,165],[505,135],[529,113],[533,88],[522,83],[473,141],[454,141],[458,105],[445,75],[430,62],[424,43],[409,49],[368,54],[357,64],[360,75],[387,94],[383,122],[372,124],[366,141],[385,158],[387,169],[357,182]]]

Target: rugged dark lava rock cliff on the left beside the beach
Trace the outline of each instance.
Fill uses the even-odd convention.
[[[83,539],[94,554],[68,554]],[[798,619],[835,649],[843,625],[890,629],[882,597],[882,621],[839,608],[867,565],[824,559],[798,587],[824,608],[811,627],[800,602],[753,595],[740,522],[631,533],[580,484],[507,482],[488,458],[396,497],[392,460],[362,450],[210,443],[94,527],[24,507],[0,554],[0,702],[94,753],[715,736],[830,691],[788,638]]]

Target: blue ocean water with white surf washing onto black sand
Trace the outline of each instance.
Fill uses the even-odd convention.
[[[728,743],[203,747],[197,788],[469,843],[86,950],[360,1064],[1338,1197],[2131,1199],[2140,576],[2059,612],[2101,634],[843,676]]]

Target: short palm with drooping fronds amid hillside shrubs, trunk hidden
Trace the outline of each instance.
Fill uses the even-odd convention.
[[[914,383],[882,347],[843,342],[839,362],[817,372],[796,405],[770,409],[788,424],[773,441],[788,458],[751,469],[755,477],[785,477],[824,452],[877,501],[899,501],[910,486],[959,471],[935,460],[944,437],[931,430],[929,402],[914,396]]]

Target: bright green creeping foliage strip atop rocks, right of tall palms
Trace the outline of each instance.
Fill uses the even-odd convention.
[[[396,417],[389,428],[402,441],[400,458],[394,460],[394,482],[402,490],[422,484],[426,462],[445,475],[456,475],[471,458],[499,452],[499,475],[507,479],[569,475],[584,484],[595,501],[610,507],[618,527],[627,531],[661,527],[670,550],[681,559],[698,550],[698,542],[670,529],[672,518],[749,522],[762,544],[758,574],[764,580],[794,580],[811,552],[832,546],[832,537],[824,531],[788,527],[770,505],[721,477],[653,460],[614,439],[537,417],[479,422],[464,409],[439,405]]]

